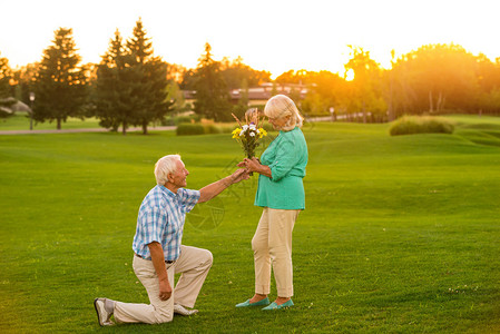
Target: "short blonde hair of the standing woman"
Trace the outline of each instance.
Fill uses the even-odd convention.
[[[264,115],[269,118],[285,118],[290,116],[290,120],[282,128],[285,131],[293,130],[295,127],[302,128],[302,117],[294,101],[286,95],[273,96],[264,108]]]

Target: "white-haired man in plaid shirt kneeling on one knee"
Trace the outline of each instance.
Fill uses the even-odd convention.
[[[200,190],[185,189],[189,175],[178,155],[160,158],[155,166],[155,186],[144,198],[134,237],[134,272],[146,288],[150,305],[128,304],[96,298],[99,324],[159,324],[170,322],[174,313],[192,315],[196,298],[212,266],[207,249],[180,244],[186,213],[197,203],[207,202],[248,175],[238,169]],[[174,274],[182,276],[173,289]]]

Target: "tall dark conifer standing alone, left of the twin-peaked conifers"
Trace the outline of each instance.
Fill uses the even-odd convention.
[[[33,118],[37,121],[57,121],[57,129],[68,117],[81,115],[86,102],[86,77],[80,67],[72,39],[72,29],[59,28],[53,45],[43,51],[38,77],[35,82],[36,104]]]

